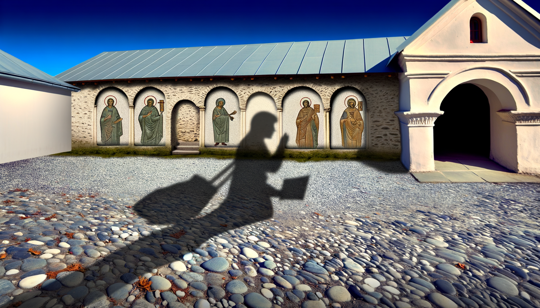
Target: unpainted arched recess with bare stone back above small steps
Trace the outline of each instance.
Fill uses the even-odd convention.
[[[199,141],[199,107],[191,100],[181,100],[172,108],[171,145],[178,141]]]

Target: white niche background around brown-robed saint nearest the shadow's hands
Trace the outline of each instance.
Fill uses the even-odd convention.
[[[318,132],[318,145],[316,148],[323,149],[325,148],[325,105],[322,104],[322,99],[320,95],[312,89],[300,87],[293,89],[288,92],[283,99],[283,132],[289,135],[289,140],[285,145],[288,149],[298,149],[296,145],[296,133],[298,127],[296,127],[296,118],[302,105],[300,100],[302,98],[311,99],[311,107],[314,108],[314,105],[319,105],[319,132]],[[341,115],[340,115],[341,117]],[[334,119],[335,120],[335,119]]]

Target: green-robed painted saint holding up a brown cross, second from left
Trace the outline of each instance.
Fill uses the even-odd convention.
[[[140,143],[143,146],[157,146],[163,138],[163,112],[154,107],[154,99],[149,98],[139,113],[141,130]]]

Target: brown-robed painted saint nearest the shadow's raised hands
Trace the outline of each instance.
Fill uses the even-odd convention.
[[[301,149],[314,149],[319,145],[319,116],[308,98],[302,98],[302,106],[296,117],[296,145]]]

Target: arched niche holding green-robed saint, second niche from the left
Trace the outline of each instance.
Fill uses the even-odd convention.
[[[153,112],[149,117],[152,117],[152,121],[148,122],[148,125],[145,127],[146,137],[143,140],[143,126],[146,125],[146,118],[143,118],[144,115],[148,113],[142,112],[143,108],[146,107],[147,101],[150,97],[156,99],[153,105]],[[163,100],[163,112],[160,111],[159,101]],[[166,117],[167,114],[167,104],[165,101],[165,95],[163,92],[159,91],[157,88],[147,87],[137,93],[134,100],[134,133],[135,133],[135,145],[136,146],[165,146],[165,131],[166,131]],[[156,111],[161,114],[160,118],[157,118]],[[144,113],[144,114],[143,114]],[[155,118],[154,118],[155,117]],[[160,138],[161,136],[161,138]]]

